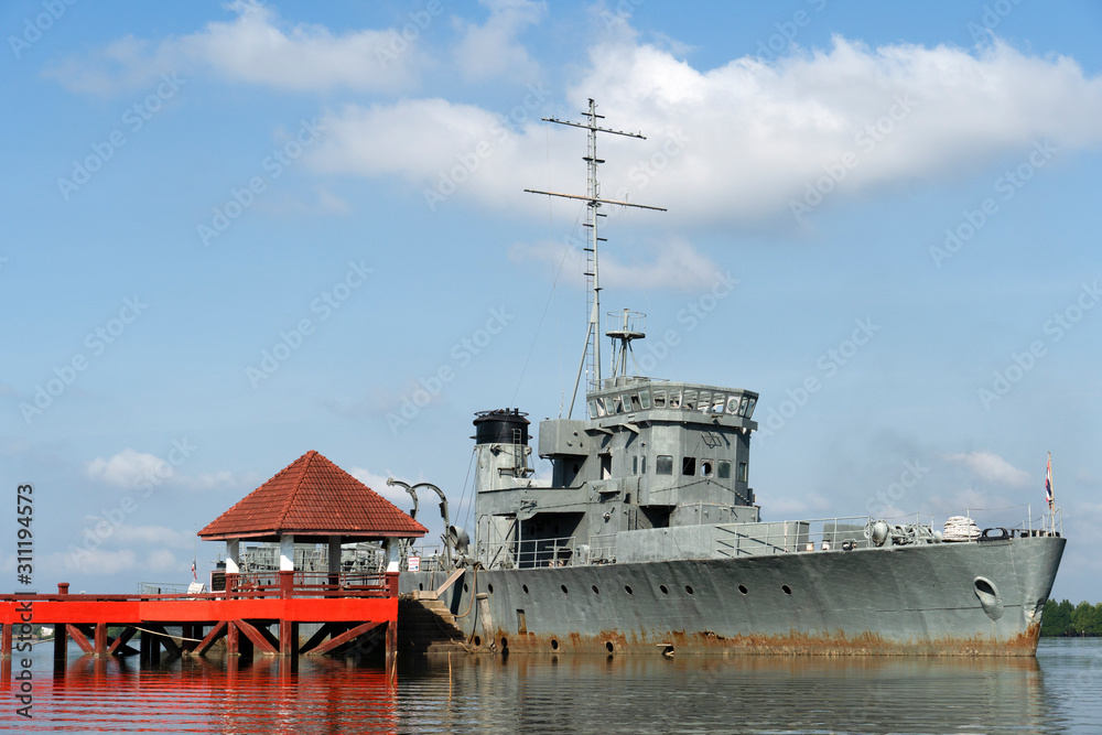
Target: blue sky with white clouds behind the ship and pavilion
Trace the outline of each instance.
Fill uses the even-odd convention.
[[[0,22],[0,477],[34,484],[40,588],[186,582],[195,529],[309,450],[464,520],[473,413],[570,400],[582,207],[522,190],[584,192],[584,133],[540,118],[593,97],[647,136],[601,140],[605,195],[669,209],[611,213],[603,306],[647,313],[655,377],[760,392],[765,517],[1016,523],[1051,451],[1054,594],[1099,598],[1102,4]]]

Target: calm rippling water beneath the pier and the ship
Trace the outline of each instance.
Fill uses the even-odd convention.
[[[151,733],[1100,733],[1102,640],[1037,659],[453,656],[379,669],[334,660],[177,660],[139,670],[39,647],[34,718],[0,731]],[[15,672],[18,672],[18,663]],[[6,672],[7,673],[7,672]]]

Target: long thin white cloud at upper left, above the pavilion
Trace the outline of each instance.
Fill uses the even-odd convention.
[[[45,74],[67,89],[99,95],[140,89],[162,72],[186,77],[207,71],[276,89],[395,90],[414,84],[425,65],[417,40],[407,42],[395,29],[334,34],[321,25],[287,23],[257,2],[238,0],[228,8],[237,15],[231,21],[155,44],[126,36]]]

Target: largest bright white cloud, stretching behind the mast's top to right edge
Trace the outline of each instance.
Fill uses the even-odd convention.
[[[970,53],[835,37],[828,51],[709,71],[615,41],[592,48],[569,109],[587,97],[608,127],[648,136],[602,138],[604,194],[668,207],[653,214],[663,226],[792,225],[791,203],[843,161],[856,163],[843,166],[825,206],[917,179],[974,174],[1004,156],[1025,161],[1045,141],[1057,159],[1102,141],[1102,79],[1069,58],[998,41]],[[539,110],[522,109],[510,128],[505,115],[444,99],[349,105],[326,119],[329,136],[310,155],[325,172],[397,175],[423,193],[450,187],[485,206],[545,212],[522,190],[581,193],[584,138],[544,130]]]

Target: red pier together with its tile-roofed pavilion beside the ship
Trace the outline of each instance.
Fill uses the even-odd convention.
[[[0,653],[12,655],[31,625],[54,626],[54,664],[65,666],[68,640],[96,657],[132,656],[156,663],[203,656],[225,639],[226,653],[299,656],[381,650],[397,646],[398,572],[348,573],[341,545],[414,539],[428,529],[317,452],[307,452],[225,511],[198,536],[226,542],[225,588],[198,594],[0,595]],[[278,570],[242,570],[241,542],[274,542]],[[325,572],[294,569],[295,544],[327,544]],[[196,587],[198,585],[195,585]],[[300,642],[299,627],[316,631]],[[28,627],[23,627],[23,626]],[[168,628],[181,629],[180,634]],[[111,636],[109,631],[118,635]],[[131,640],[136,634],[140,645]]]

